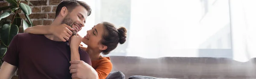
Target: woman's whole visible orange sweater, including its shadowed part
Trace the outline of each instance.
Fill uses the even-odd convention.
[[[112,63],[109,57],[103,57],[92,61],[92,67],[97,71],[99,79],[106,79],[112,70]]]

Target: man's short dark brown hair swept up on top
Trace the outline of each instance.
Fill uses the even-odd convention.
[[[67,10],[71,12],[76,6],[83,6],[88,12],[87,16],[90,16],[92,9],[87,3],[78,0],[63,0],[56,8],[55,18],[60,14],[62,7],[67,7]]]

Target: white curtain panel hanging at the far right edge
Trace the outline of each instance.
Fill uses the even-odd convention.
[[[256,57],[256,1],[230,0],[234,59]]]

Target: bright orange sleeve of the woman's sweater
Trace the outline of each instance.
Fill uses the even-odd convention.
[[[98,73],[99,79],[106,79],[112,70],[112,63],[110,61],[101,63],[95,70]]]

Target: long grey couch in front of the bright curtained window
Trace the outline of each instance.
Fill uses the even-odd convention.
[[[256,78],[256,59],[237,62],[228,58],[211,57],[146,59],[136,56],[110,56],[110,58],[113,63],[112,71],[121,71],[125,74],[125,79],[134,76],[174,79]]]

